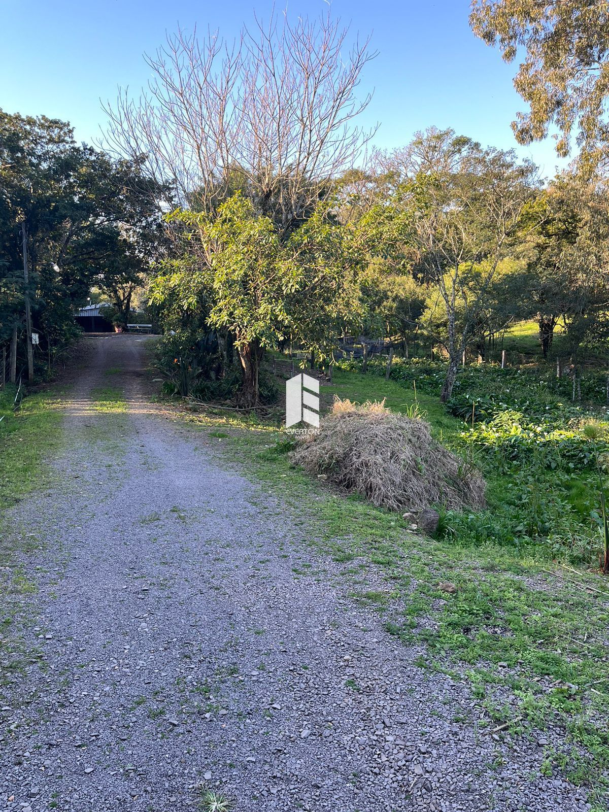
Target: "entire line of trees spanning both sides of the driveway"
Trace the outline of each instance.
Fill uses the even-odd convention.
[[[183,394],[213,381],[255,407],[266,350],[324,365],[363,333],[442,346],[447,400],[464,351],[520,319],[544,356],[560,323],[577,378],[607,339],[604,177],[544,185],[515,153],[434,128],[363,161],[373,56],[330,15],[244,29],[231,49],[180,33],[148,59],[148,93],[106,110],[113,157],[2,114],[0,341],[24,335],[25,227],[41,340],[71,335],[93,285],[126,322],[146,283]]]

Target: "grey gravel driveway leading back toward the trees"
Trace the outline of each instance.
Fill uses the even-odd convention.
[[[19,607],[42,661],[0,688],[0,809],[166,812],[201,786],[241,812],[590,809],[539,774],[543,740],[477,730],[469,686],[348,598],[314,516],[162,417],[149,340],[89,339],[58,482],[11,514],[45,542]],[[109,385],[127,413],[97,410]]]

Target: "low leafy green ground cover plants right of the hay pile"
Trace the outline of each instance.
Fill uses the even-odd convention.
[[[429,397],[442,387],[442,368],[440,361],[399,360],[391,381],[412,397],[415,391]],[[385,369],[382,362],[369,364],[377,382]],[[575,405],[568,380],[550,369],[540,374],[537,367],[486,364],[461,370],[446,404],[455,417],[446,442],[482,471],[489,504],[483,512],[447,516],[445,532],[456,543],[535,544],[548,555],[598,564],[603,525],[598,465],[604,472],[607,458],[603,378],[594,372],[582,378],[588,400]],[[591,423],[597,427],[594,441],[586,430]]]

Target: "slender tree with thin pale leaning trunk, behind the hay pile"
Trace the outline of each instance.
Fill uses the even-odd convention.
[[[452,130],[418,133],[407,150],[416,173],[405,186],[409,244],[417,268],[438,292],[446,314],[448,400],[464,349],[499,263],[508,257],[536,169],[512,151],[482,149]]]

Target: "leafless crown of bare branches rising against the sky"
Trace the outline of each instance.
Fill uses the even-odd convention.
[[[370,101],[356,89],[374,55],[369,40],[348,49],[329,13],[256,20],[232,45],[179,31],[146,57],[149,88],[106,106],[106,140],[146,153],[185,205],[209,212],[239,190],[287,234],[374,134],[353,124]]]

